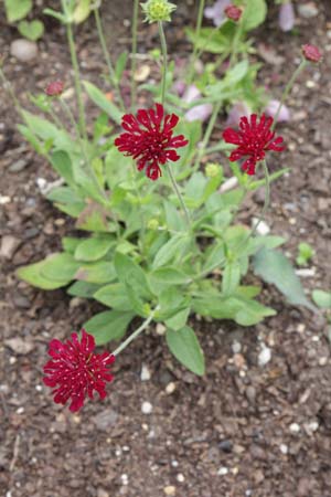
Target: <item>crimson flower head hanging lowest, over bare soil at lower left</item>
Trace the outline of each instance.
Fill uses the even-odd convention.
[[[77,334],[62,343],[57,339],[50,342],[51,360],[44,366],[44,383],[53,390],[54,402],[65,404],[71,399],[70,410],[83,408],[85,396],[93,399],[94,390],[100,399],[106,396],[106,381],[114,379],[108,366],[115,361],[115,356],[108,352],[94,353],[95,340],[92,335],[82,330],[79,342]]]

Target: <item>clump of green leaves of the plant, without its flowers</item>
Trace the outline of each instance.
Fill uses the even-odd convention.
[[[253,13],[248,15],[248,4],[245,3],[247,10],[241,20],[246,30],[264,19],[254,21]],[[231,31],[229,22],[224,29]],[[231,46],[233,39],[227,31],[222,36]],[[75,131],[70,123],[61,127],[51,119],[53,96],[55,105],[65,105],[58,93],[33,97],[44,116],[22,110],[21,134],[50,160],[63,180],[47,193],[47,199],[74,219],[75,230],[62,240],[61,252],[21,267],[18,275],[45,290],[65,287],[71,296],[102,303],[105,310],[83,324],[97,345],[121,340],[135,317],[152,316],[154,322],[164,324],[166,342],[174,357],[194,373],[203,374],[204,357],[191,327],[192,316],[231,319],[249,327],[275,315],[257,298],[261,285],[245,283],[252,262],[255,273],[275,284],[293,304],[312,307],[290,263],[276,250],[285,240],[257,235],[236,221],[245,195],[264,187],[266,179],[250,178],[237,163],[231,163],[236,187],[228,188],[220,162],[218,168],[203,168],[199,159],[201,142],[204,157],[224,154],[232,146],[222,140],[220,133],[218,142],[209,148],[201,121],[184,119],[190,106],[212,103],[221,108],[245,99],[242,96],[247,93],[252,102],[255,95],[254,107],[258,107],[258,92],[254,91],[257,67],[249,65],[247,50],[244,44],[236,54],[237,61],[222,77],[213,74],[205,81],[202,102],[193,104],[185,104],[171,93],[170,65],[164,76],[164,108],[179,116],[175,135],[183,136],[188,145],[180,148],[179,160],[161,166],[158,181],[138,172],[135,160],[115,146],[125,113],[119,103],[109,101],[94,84],[82,82],[84,92],[100,110],[88,139],[84,138],[84,127],[82,133],[78,128]],[[127,57],[121,55],[110,78],[120,82],[126,64]],[[161,93],[157,84],[143,84],[140,88],[150,91],[151,97]],[[190,226],[167,168],[171,168],[177,180]],[[270,175],[270,181],[285,170]]]

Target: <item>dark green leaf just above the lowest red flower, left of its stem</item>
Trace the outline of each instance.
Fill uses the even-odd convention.
[[[104,345],[110,340],[122,338],[132,317],[132,313],[106,310],[88,319],[83,327],[94,336],[96,345]]]

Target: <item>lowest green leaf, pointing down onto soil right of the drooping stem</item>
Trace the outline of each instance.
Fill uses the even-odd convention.
[[[193,373],[204,374],[203,351],[192,328],[184,326],[179,330],[168,329],[166,340],[177,360]]]

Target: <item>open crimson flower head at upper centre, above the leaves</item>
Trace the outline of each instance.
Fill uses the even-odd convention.
[[[146,176],[154,181],[162,176],[160,165],[163,166],[168,160],[179,160],[180,156],[174,149],[189,142],[183,135],[172,136],[178,121],[175,114],[164,116],[161,104],[156,104],[156,110],[139,109],[137,117],[126,114],[121,126],[127,133],[119,135],[115,145],[126,156],[138,159],[138,170],[146,169]]]

